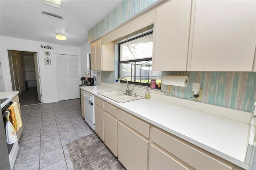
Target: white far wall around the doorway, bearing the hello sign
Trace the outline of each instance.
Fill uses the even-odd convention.
[[[38,42],[17,38],[10,38],[0,36],[0,46],[1,46],[1,76],[0,80],[0,92],[12,91],[12,84],[10,79],[10,68],[8,64],[8,53],[7,50],[18,50],[18,51],[31,51],[38,52],[39,57],[39,69],[41,76],[41,89],[42,89],[42,103],[50,103],[58,101],[57,93],[57,82],[56,82],[56,70],[55,70],[55,59],[54,56],[58,54],[67,55],[78,55],[80,61],[80,47],[59,45],[47,42]],[[53,49],[44,49],[43,46],[50,46]],[[44,51],[51,52],[50,56],[46,56]],[[49,57],[51,59],[51,65],[45,65],[44,59]],[[79,66],[80,67],[80,66]],[[81,69],[81,68],[79,68]],[[80,75],[79,75],[80,76]]]

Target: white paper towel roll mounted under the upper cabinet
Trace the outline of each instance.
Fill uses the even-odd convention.
[[[189,79],[186,75],[164,75],[162,77],[162,84],[164,85],[187,87],[188,83]]]

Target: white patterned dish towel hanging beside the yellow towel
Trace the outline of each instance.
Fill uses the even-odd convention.
[[[5,125],[5,133],[6,133],[6,142],[8,144],[13,144],[18,140],[16,130],[12,126],[12,123],[10,123],[9,117],[10,117],[10,112],[8,112],[7,117],[6,117],[6,125]]]

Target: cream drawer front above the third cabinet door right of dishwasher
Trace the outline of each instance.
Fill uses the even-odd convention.
[[[146,138],[149,138],[150,125],[140,121],[139,119],[125,113],[124,111],[118,110],[118,119],[130,126]]]

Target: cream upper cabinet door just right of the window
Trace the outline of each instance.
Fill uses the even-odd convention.
[[[155,9],[154,70],[186,71],[190,11],[190,0],[168,1]]]

